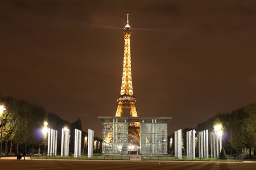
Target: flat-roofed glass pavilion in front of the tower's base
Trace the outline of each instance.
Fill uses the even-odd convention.
[[[167,122],[171,117],[98,117],[102,121],[102,154],[167,154]],[[140,124],[138,145],[130,142],[130,125]],[[137,148],[134,148],[137,146]]]

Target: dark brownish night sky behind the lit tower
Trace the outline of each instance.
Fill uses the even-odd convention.
[[[256,102],[256,2],[0,2],[0,91],[101,135],[121,89],[129,13],[140,117],[168,134]],[[124,115],[128,116],[128,115]]]

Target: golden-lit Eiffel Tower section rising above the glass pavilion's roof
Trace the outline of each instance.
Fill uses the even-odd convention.
[[[133,83],[131,81],[131,27],[129,25],[129,14],[127,14],[127,23],[123,33],[125,39],[125,50],[123,54],[123,74],[120,96],[117,99],[118,107],[115,116],[121,117],[123,114],[123,109],[130,109],[130,116],[138,117],[135,107],[136,99],[133,97]]]

